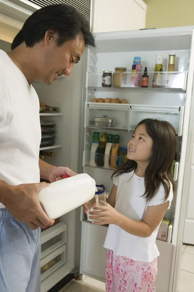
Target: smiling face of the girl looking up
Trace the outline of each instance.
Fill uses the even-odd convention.
[[[140,125],[128,143],[127,158],[136,162],[149,162],[152,146],[153,140],[146,132],[145,125]]]

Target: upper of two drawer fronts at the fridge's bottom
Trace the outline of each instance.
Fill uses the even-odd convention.
[[[66,224],[59,222],[41,233],[41,259],[66,243]]]

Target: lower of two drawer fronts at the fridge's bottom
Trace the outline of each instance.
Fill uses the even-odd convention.
[[[66,246],[62,245],[48,256],[40,260],[40,279],[41,281],[65,264]]]

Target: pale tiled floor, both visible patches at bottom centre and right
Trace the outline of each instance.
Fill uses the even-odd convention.
[[[90,284],[90,278],[86,278],[83,282],[73,281],[72,284],[65,290],[60,292],[104,292],[105,284],[99,281],[95,281],[95,287]],[[97,289],[99,288],[99,289]],[[178,283],[178,292],[194,291],[194,246],[183,245],[182,256],[180,264],[180,274]]]

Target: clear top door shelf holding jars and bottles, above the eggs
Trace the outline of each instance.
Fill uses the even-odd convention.
[[[144,91],[146,89],[178,89],[182,91],[186,91],[187,84],[187,71],[183,72],[153,72],[150,71],[147,73],[149,76],[148,88],[142,88]],[[111,87],[103,87],[103,72],[88,72],[88,80],[86,87],[88,88],[133,88],[140,89],[141,88],[141,76],[143,75],[143,71],[140,73],[132,73],[132,71],[128,72],[119,72],[112,73],[112,84]],[[109,76],[110,77],[110,76]],[[156,79],[156,87],[152,87],[153,78]],[[111,77],[110,77],[111,79]]]

